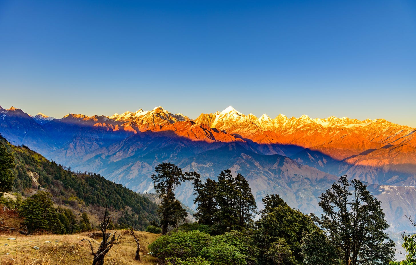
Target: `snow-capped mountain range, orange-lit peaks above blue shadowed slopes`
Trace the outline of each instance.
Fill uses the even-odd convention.
[[[61,119],[0,107],[0,133],[74,171],[94,171],[138,192],[152,192],[161,162],[215,178],[241,173],[258,206],[280,194],[302,212],[319,213],[319,196],[348,175],[365,182],[382,202],[392,231],[409,229],[416,205],[415,128],[384,119],[274,119],[233,107],[190,119],[162,107],[112,116],[68,114]],[[191,183],[176,196],[193,205]]]

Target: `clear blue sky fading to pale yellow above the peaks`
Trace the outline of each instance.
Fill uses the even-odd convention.
[[[0,105],[416,127],[416,1],[0,0]]]

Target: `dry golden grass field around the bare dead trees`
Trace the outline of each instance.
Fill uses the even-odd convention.
[[[115,231],[107,231],[114,233]],[[157,259],[148,255],[147,246],[156,240],[160,234],[135,232],[140,242],[141,261],[134,260],[136,243],[133,236],[125,230],[117,230],[119,244],[114,245],[104,258],[108,265],[156,265]],[[15,238],[11,240],[8,238]],[[31,235],[22,236],[19,233],[0,232],[0,265],[87,265],[92,264],[90,239],[94,250],[99,242],[89,238],[89,233],[75,235]],[[39,248],[39,249],[37,249]]]

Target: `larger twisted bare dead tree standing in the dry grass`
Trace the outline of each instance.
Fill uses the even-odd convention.
[[[89,246],[91,247],[91,253],[94,255],[94,260],[92,261],[92,265],[104,265],[104,256],[109,252],[111,247],[114,244],[117,244],[119,240],[119,236],[117,239],[115,238],[116,232],[114,232],[113,236],[110,238],[111,234],[107,232],[107,226],[111,221],[112,215],[107,212],[107,207],[105,207],[104,217],[100,218],[102,221],[100,222],[100,229],[102,232],[103,240],[101,241],[100,245],[98,246],[97,252],[94,253],[94,248],[92,247],[92,243],[89,239],[82,239],[81,241],[88,241]],[[81,242],[79,241],[79,242]]]

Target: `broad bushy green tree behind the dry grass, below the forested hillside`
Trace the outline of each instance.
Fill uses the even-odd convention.
[[[33,231],[64,233],[64,227],[51,197],[52,194],[49,192],[40,190],[23,201],[20,214],[24,217],[24,224],[30,233]]]

